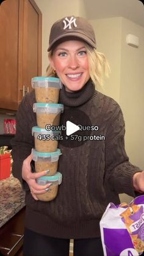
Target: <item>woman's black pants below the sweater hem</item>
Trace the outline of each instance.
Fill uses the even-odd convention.
[[[69,256],[70,240],[52,238],[25,229],[24,256]],[[74,256],[103,256],[101,238],[74,240]]]

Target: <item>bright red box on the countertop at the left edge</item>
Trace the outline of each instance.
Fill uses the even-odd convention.
[[[10,177],[10,154],[0,155],[0,180]]]

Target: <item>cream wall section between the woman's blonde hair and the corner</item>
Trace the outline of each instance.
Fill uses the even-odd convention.
[[[121,17],[90,20],[95,30],[97,50],[106,55],[111,69],[109,79],[105,79],[103,90],[99,90],[118,103],[121,74],[121,20]]]

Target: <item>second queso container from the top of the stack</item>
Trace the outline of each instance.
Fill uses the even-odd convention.
[[[45,128],[46,125],[59,125],[60,114],[63,112],[63,104],[34,103],[33,111],[37,115],[37,125]]]

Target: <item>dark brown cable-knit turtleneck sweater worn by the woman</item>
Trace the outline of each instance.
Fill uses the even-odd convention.
[[[35,93],[27,93],[16,115],[16,136],[12,140],[13,175],[26,190],[26,227],[57,238],[100,236],[99,221],[109,202],[118,204],[118,194],[135,197],[132,176],[140,171],[129,163],[124,150],[124,120],[120,106],[97,92],[91,81],[74,93],[60,91],[64,108],[79,108],[98,125],[106,140],[87,141],[81,147],[59,144],[62,155],[58,170],[63,175],[56,199],[36,201],[21,177],[23,160],[34,147],[32,126],[37,125],[32,110]],[[64,115],[64,113],[63,113]],[[95,134],[95,131],[93,131]]]

